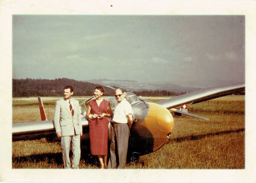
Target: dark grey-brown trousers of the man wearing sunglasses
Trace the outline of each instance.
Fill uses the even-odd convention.
[[[110,129],[110,159],[108,168],[125,168],[130,129],[127,124],[115,123]],[[115,151],[117,149],[119,164]]]

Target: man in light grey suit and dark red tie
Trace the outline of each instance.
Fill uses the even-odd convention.
[[[71,99],[73,87],[65,86],[64,99],[55,104],[54,126],[57,137],[61,138],[61,151],[64,168],[78,168],[80,161],[80,136],[82,136],[81,109],[79,101]],[[70,143],[72,144],[72,165],[69,159]]]

